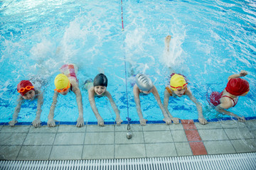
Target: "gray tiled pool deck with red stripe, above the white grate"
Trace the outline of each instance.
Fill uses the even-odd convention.
[[[182,124],[0,126],[1,160],[119,159],[256,152],[256,120]]]

